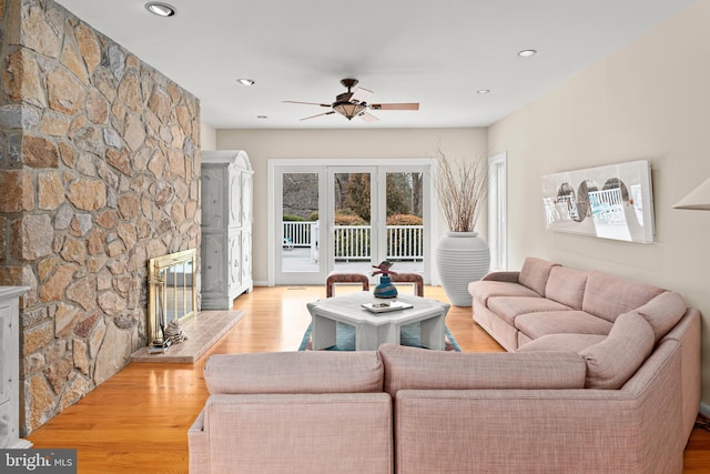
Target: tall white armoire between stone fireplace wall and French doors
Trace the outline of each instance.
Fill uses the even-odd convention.
[[[254,288],[252,165],[243,151],[202,152],[202,309],[231,310]]]

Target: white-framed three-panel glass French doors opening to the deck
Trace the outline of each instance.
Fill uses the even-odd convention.
[[[333,270],[371,273],[383,260],[429,282],[432,185],[422,164],[270,161],[270,284],[323,284]],[[286,163],[282,163],[286,161]]]

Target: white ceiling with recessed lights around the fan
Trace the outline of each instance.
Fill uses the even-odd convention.
[[[486,127],[694,1],[168,0],[178,13],[160,18],[145,0],[58,0],[200,98],[217,129]],[[420,109],[300,121],[325,110],[282,103],[331,103],[343,78]]]

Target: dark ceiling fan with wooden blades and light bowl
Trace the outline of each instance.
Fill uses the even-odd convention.
[[[316,102],[298,102],[295,100],[285,100],[284,103],[304,103],[306,105],[325,107],[329,110],[327,112],[318,113],[311,117],[304,117],[301,120],[315,119],[321,115],[329,115],[332,113],[339,113],[347,120],[353,120],[353,117],[359,117],[366,122],[376,122],[379,119],[367,112],[369,110],[419,110],[418,102],[409,103],[367,103],[367,99],[371,98],[373,91],[367,89],[357,88],[353,91],[353,88],[357,85],[357,79],[343,79],[341,84],[347,88],[347,92],[343,92],[335,98],[333,103],[316,103]]]

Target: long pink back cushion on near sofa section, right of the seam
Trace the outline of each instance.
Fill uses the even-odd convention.
[[[383,344],[385,392],[400,390],[581,389],[586,364],[574,353],[462,353]]]

